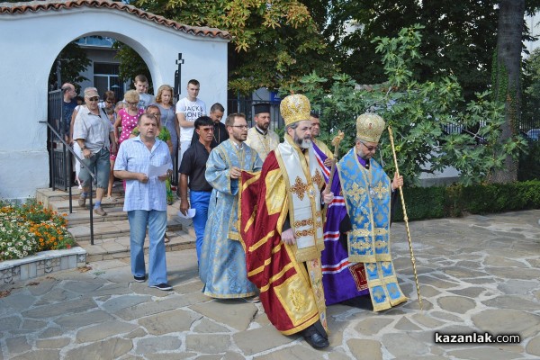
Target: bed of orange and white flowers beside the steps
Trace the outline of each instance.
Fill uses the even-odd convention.
[[[0,202],[0,261],[75,246],[66,216],[45,209],[41,202]]]

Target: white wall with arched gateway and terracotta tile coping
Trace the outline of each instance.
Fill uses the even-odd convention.
[[[121,40],[148,64],[155,86],[174,84],[181,52],[181,89],[196,78],[206,103],[227,103],[227,31],[186,26],[127,4],[78,0],[2,3],[0,33],[0,198],[23,200],[49,185],[47,130],[39,121],[47,118],[50,67],[72,40]]]

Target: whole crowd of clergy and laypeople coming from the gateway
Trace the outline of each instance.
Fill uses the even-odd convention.
[[[356,120],[353,148],[338,162],[320,139],[320,117],[302,94],[280,104],[284,139],[270,129],[269,103],[254,106],[254,126],[243,113],[198,98],[200,84],[173,103],[173,88],[154,98],[148,79],[116,103],[114,93],[62,86],[67,139],[84,166],[77,178],[85,206],[94,173],[94,213],[106,216],[114,177],[123,181],[123,210],[130,223],[130,264],[136,282],[168,291],[166,208],[174,202],[171,175],[178,171],[179,210],[193,216],[202,292],[211,298],[261,302],[284,335],[301,333],[314,348],[329,347],[326,307],[351,306],[369,297],[374,311],[407,298],[392,264],[390,225],[401,176],[392,179],[373,158],[383,119]],[[179,167],[173,158],[179,154]],[[330,168],[335,167],[335,171]],[[333,177],[331,177],[333,176]],[[330,185],[329,185],[330,184]],[[194,212],[194,214],[193,214]],[[148,229],[148,230],[147,230]]]

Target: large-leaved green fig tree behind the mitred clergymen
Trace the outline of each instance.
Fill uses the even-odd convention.
[[[519,148],[526,144],[519,138],[499,144],[504,108],[491,101],[488,91],[465,102],[462,87],[452,74],[438,81],[415,79],[411,68],[421,56],[421,29],[416,25],[402,29],[395,38],[374,40],[387,78],[381,85],[358,85],[347,75],[329,80],[313,73],[294,87],[300,87],[322,112],[323,130],[347,131],[342,153],[354,145],[357,115],[377,112],[392,127],[400,171],[409,184],[419,184],[420,174],[446,166],[460,171],[463,184],[482,183],[504,166],[507,155],[518,157]],[[329,91],[324,90],[327,83],[331,84]],[[466,129],[478,130],[471,133]],[[383,132],[380,148],[385,167],[392,172],[388,131]]]

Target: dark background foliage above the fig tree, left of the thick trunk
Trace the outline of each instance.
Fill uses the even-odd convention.
[[[333,45],[342,69],[362,84],[376,84],[385,75],[372,40],[397,36],[401,28],[421,23],[425,27],[423,41],[419,58],[410,64],[412,76],[427,81],[453,74],[463,86],[465,98],[472,98],[490,83],[498,2],[337,1],[327,31],[338,34]],[[357,26],[347,33],[347,24]]]

